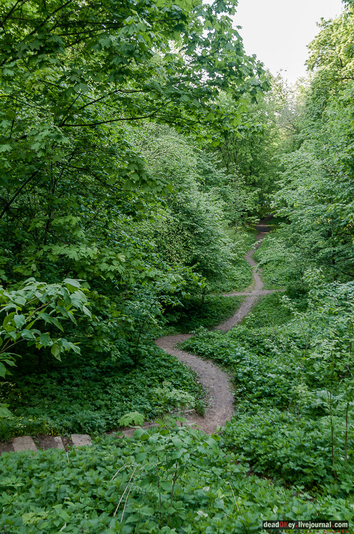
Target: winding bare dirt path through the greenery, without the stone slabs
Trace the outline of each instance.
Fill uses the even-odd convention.
[[[267,217],[261,219],[256,226],[258,230],[256,237],[258,242],[256,248],[261,245],[262,239],[269,232],[267,222],[271,217],[271,215],[267,215]],[[254,249],[251,249],[245,255],[245,260],[253,268],[253,282],[251,286],[246,288],[244,292],[224,293],[225,296],[238,295],[245,296],[246,298],[236,313],[227,319],[225,323],[216,326],[214,328],[215,330],[227,332],[242,321],[242,319],[250,312],[261,295],[267,295],[269,293],[274,293],[275,291],[274,289],[263,289],[264,283],[260,278],[261,270],[259,269],[258,273],[256,272],[256,269],[254,269],[257,266],[257,263],[252,258],[253,253]],[[155,343],[158,345],[158,347],[168,352],[168,354],[176,356],[181,362],[190,366],[199,376],[200,382],[207,390],[208,407],[205,410],[204,417],[191,415],[187,419],[189,422],[193,422],[195,425],[199,426],[205,433],[212,434],[215,432],[218,425],[224,426],[225,422],[232,416],[234,412],[234,396],[230,390],[228,373],[222,371],[220,367],[208,360],[203,360],[193,354],[190,354],[189,352],[185,352],[176,348],[177,343],[182,343],[190,337],[192,337],[192,334],[164,336],[156,340]]]

